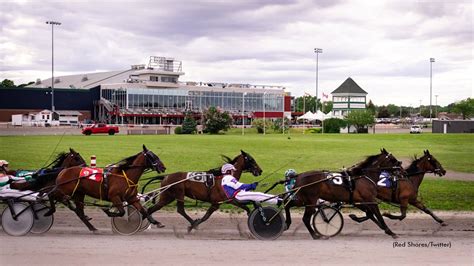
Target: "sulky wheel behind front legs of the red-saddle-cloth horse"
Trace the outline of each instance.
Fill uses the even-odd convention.
[[[112,230],[121,235],[133,235],[140,230],[142,225],[142,215],[133,207],[125,207],[125,214],[122,217],[112,217]]]

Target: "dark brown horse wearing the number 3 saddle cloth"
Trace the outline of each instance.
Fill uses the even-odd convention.
[[[400,161],[382,149],[380,154],[369,156],[348,171],[337,173],[335,176],[329,172],[316,170],[299,174],[293,188],[296,197],[285,203],[287,229],[291,225],[290,208],[304,206],[303,223],[313,239],[319,239],[320,236],[311,227],[310,220],[316,212],[315,207],[318,205],[318,199],[321,198],[330,202],[355,203],[355,207],[366,212],[367,216],[386,234],[396,238],[397,235],[388,228],[380,214],[376,201],[376,185],[367,176],[378,176],[380,169],[400,165]],[[344,185],[342,177],[350,180],[347,186]]]

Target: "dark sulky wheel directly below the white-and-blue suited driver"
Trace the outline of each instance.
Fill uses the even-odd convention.
[[[274,207],[254,209],[249,216],[248,226],[252,235],[260,240],[275,240],[285,229],[281,212]]]

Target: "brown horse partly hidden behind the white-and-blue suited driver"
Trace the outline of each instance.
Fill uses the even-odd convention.
[[[234,173],[234,177],[239,180],[242,172],[251,172],[254,176],[261,175],[262,169],[260,169],[255,159],[250,154],[242,150],[240,152],[241,153],[232,160],[223,156],[226,158],[228,163],[234,165],[234,167],[237,169]],[[160,210],[164,206],[176,200],[178,213],[186,218],[186,220],[190,223],[188,232],[197,228],[199,224],[209,219],[212,213],[219,209],[219,206],[223,202],[228,201],[227,196],[221,187],[221,178],[215,178],[214,185],[212,187],[208,187],[203,182],[194,182],[190,180],[188,175],[190,173],[192,172],[176,172],[166,176],[156,177],[156,179],[162,178],[161,188],[167,189],[161,191],[159,201],[148,209],[148,214],[151,215],[152,213]],[[216,177],[222,176],[220,167],[207,171],[207,174],[213,174]],[[211,203],[211,207],[209,207],[202,218],[193,220],[184,210],[185,196],[199,201],[209,202]],[[229,203],[244,209],[247,213],[250,213],[250,210],[247,206],[241,205],[235,201],[230,201]]]

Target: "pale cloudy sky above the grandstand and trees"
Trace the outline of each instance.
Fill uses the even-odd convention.
[[[151,55],[183,62],[181,81],[285,86],[319,97],[352,77],[376,105],[473,97],[470,0],[0,0],[0,79],[125,70]]]

